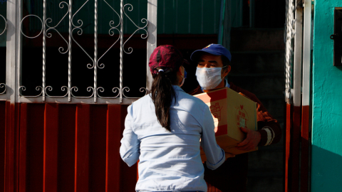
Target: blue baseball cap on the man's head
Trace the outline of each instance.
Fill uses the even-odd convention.
[[[230,54],[229,50],[220,44],[210,44],[205,48],[195,50],[194,53],[191,54],[190,59],[197,60],[203,53],[223,55],[224,57],[228,58],[229,61],[232,59],[232,55]]]

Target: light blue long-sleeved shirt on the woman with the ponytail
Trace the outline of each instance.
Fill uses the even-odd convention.
[[[207,191],[199,139],[209,169],[224,163],[209,107],[172,86],[177,102],[170,107],[171,132],[157,121],[150,95],[128,107],[120,155],[128,166],[140,160],[136,191]]]

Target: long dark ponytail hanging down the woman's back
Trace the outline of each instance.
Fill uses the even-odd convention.
[[[158,70],[165,70],[158,72]],[[152,74],[153,83],[151,89],[152,101],[155,104],[155,115],[158,122],[171,132],[170,129],[170,106],[176,102],[176,93],[172,83],[177,82],[177,71],[172,69],[156,68],[157,74]]]

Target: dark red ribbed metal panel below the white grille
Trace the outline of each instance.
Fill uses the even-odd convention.
[[[0,102],[0,191],[135,191],[125,105]]]

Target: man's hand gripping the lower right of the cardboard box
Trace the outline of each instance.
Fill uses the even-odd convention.
[[[247,137],[244,139],[244,141],[237,144],[236,148],[243,151],[255,149],[260,142],[261,134],[259,132],[253,131],[252,129],[246,129],[243,127],[240,127],[240,129],[242,132],[247,134]]]

